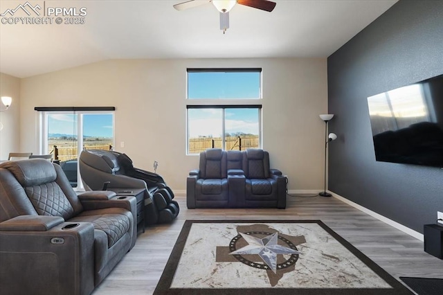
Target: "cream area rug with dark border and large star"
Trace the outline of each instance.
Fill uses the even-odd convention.
[[[320,220],[186,220],[154,294],[413,294]]]

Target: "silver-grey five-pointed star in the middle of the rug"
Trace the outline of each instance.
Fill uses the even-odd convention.
[[[277,273],[277,255],[278,254],[299,254],[300,252],[278,244],[278,233],[267,235],[264,238],[255,238],[245,233],[239,233],[248,243],[247,246],[230,252],[231,255],[236,254],[258,254],[263,262],[272,269],[274,274]]]

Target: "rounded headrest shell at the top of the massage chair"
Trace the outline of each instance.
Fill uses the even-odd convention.
[[[80,154],[80,160],[87,165],[107,173],[120,170],[116,154],[107,150],[84,150]]]

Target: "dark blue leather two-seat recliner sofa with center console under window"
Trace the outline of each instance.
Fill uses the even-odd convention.
[[[190,171],[186,202],[193,208],[286,208],[286,177],[269,168],[261,149],[200,153],[199,169]]]

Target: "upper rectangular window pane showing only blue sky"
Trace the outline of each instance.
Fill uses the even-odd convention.
[[[188,69],[188,98],[262,98],[261,74],[262,69]]]

